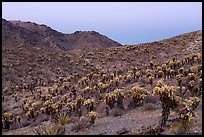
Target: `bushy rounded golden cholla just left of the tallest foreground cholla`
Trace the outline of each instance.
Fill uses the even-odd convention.
[[[133,99],[134,107],[143,102],[145,96],[147,95],[147,90],[142,87],[135,86],[131,89],[131,96]]]

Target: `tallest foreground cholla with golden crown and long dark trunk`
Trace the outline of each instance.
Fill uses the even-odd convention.
[[[153,89],[153,95],[159,95],[162,103],[162,117],[161,126],[165,126],[170,114],[170,110],[178,105],[179,99],[175,96],[175,87],[168,86],[162,81],[158,81],[156,87]]]

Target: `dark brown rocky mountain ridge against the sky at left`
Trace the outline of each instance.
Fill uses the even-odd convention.
[[[122,46],[95,31],[76,31],[72,34],[57,32],[46,25],[2,19],[2,45],[22,44],[68,50],[92,50]]]

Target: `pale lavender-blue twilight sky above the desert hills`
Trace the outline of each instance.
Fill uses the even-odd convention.
[[[138,44],[201,30],[202,2],[2,2],[2,17]]]

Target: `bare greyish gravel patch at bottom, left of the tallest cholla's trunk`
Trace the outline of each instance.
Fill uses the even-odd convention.
[[[123,114],[122,116],[114,117],[108,116],[97,119],[94,126],[83,129],[78,132],[71,132],[70,126],[66,129],[66,134],[74,135],[115,135],[116,131],[126,128],[128,131],[132,131],[135,128],[141,126],[147,127],[149,125],[158,124],[161,110],[143,111],[142,107],[133,109],[130,112]]]

